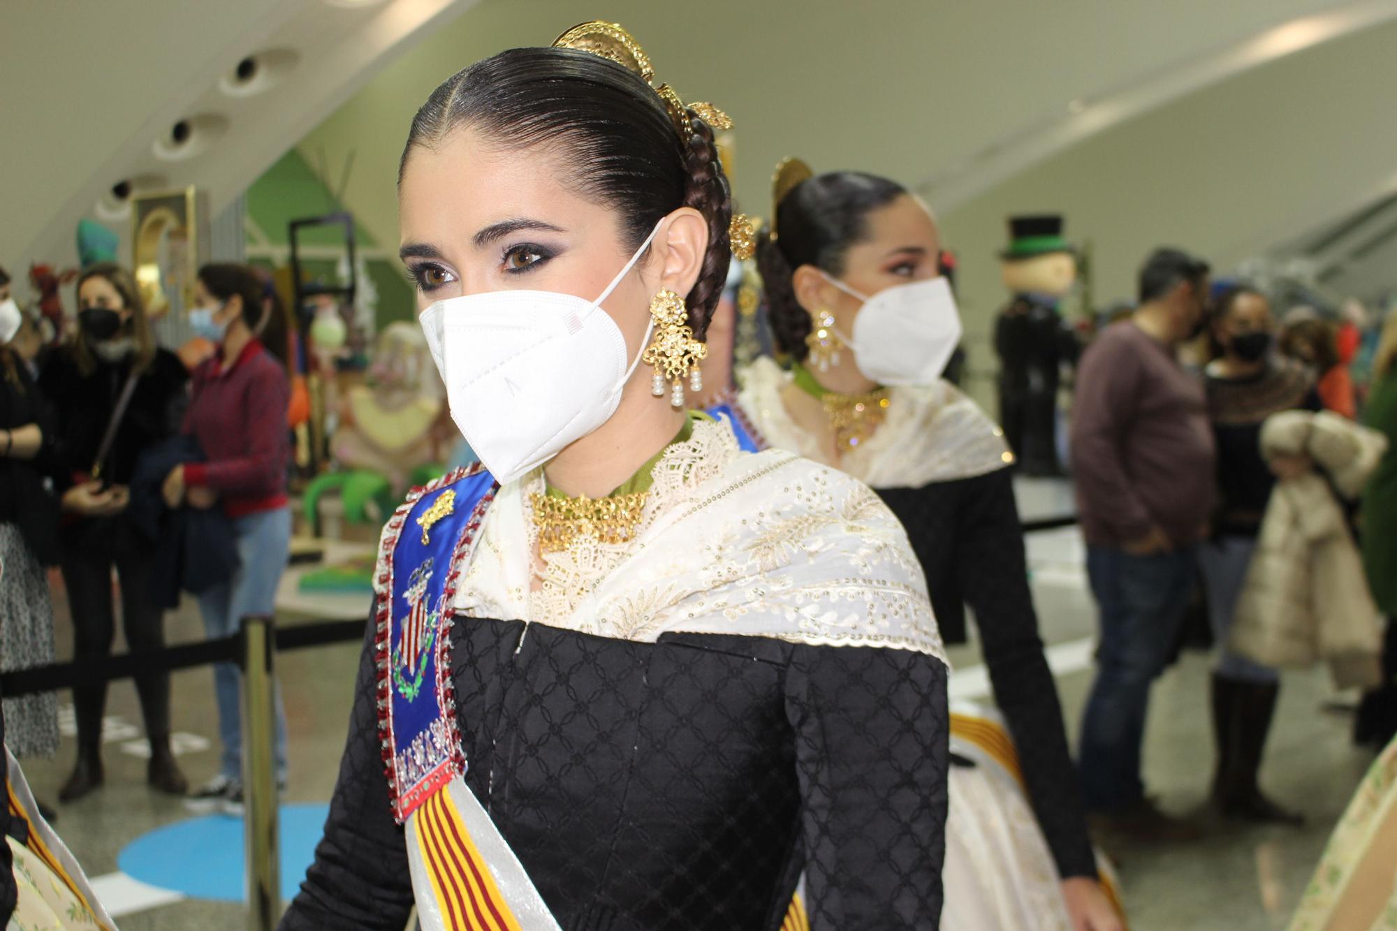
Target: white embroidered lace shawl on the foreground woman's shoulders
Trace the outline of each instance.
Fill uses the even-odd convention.
[[[784,452],[743,454],[725,422],[707,421],[654,474],[634,540],[549,558],[532,593],[528,493],[542,478],[503,486],[457,611],[638,642],[728,633],[946,661],[907,535],[863,484]]]

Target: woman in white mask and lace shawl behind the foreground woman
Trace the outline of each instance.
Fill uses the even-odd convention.
[[[789,366],[759,358],[719,410],[759,445],[877,491],[907,528],[947,639],[964,640],[964,605],[974,609],[1003,714],[953,707],[942,927],[1120,928],[1038,635],[1013,454],[942,379],[961,322],[936,219],[897,182],[813,175],[798,159],[777,166],[773,201],[757,263]]]

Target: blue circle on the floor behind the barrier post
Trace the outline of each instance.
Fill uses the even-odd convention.
[[[326,826],[330,805],[281,807],[281,896],[291,902]],[[116,858],[133,879],[180,892],[191,899],[243,902],[243,819],[203,815],[141,835]]]

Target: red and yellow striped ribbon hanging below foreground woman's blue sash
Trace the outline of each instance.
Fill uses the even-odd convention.
[[[422,802],[416,821],[418,846],[447,927],[521,931],[450,793],[433,793]]]

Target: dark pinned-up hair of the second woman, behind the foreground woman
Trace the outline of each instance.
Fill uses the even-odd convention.
[[[757,268],[767,292],[767,316],[777,349],[803,361],[809,352],[810,315],[795,296],[792,277],[800,266],[844,274],[849,246],[868,236],[868,215],[907,193],[887,178],[828,172],[796,185],[775,208],[777,238],[757,240]]]

